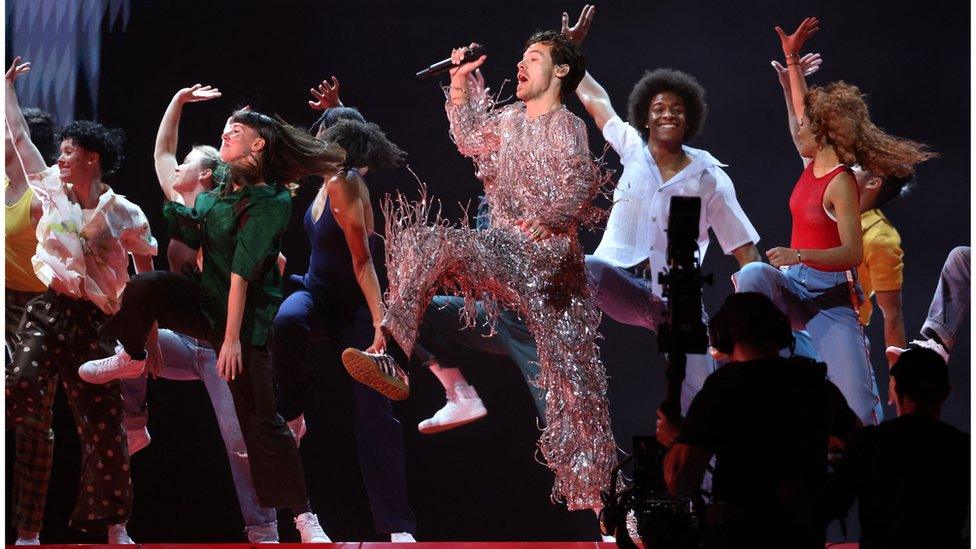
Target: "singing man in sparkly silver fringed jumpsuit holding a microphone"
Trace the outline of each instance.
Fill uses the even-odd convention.
[[[472,44],[474,46],[475,44]],[[582,120],[569,112],[585,73],[579,47],[559,32],[532,36],[518,63],[511,105],[472,97],[467,63],[455,49],[446,105],[461,154],[474,159],[491,208],[486,230],[430,224],[429,201],[387,207],[390,286],[384,326],[409,355],[433,295],[465,298],[469,326],[476,302],[490,322],[500,308],[525,319],[539,347],[546,393],[540,448],[555,473],[553,498],[569,509],[600,506],[616,463],[606,374],[596,345],[600,315],[586,284],[577,230],[600,220],[593,198],[609,180],[593,161]]]

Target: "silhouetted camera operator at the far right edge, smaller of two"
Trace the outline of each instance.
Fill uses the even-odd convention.
[[[891,377],[898,417],[854,433],[831,478],[841,508],[857,497],[862,549],[968,547],[969,435],[939,419],[946,363],[909,349]]]

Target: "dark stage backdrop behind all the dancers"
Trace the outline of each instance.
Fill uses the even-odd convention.
[[[488,48],[483,72],[497,90],[503,79],[514,76],[525,37],[557,26],[563,10],[575,20],[582,7],[575,0],[133,4],[127,31],[106,37],[102,46],[97,117],[128,134],[128,158],[113,185],[143,206],[157,228],[161,250],[166,235],[159,229],[162,197],[151,151],[159,118],[180,87],[201,82],[219,86],[224,94],[185,108],[183,154],[194,142],[217,144],[228,113],[244,104],[310,124],[308,88],[337,75],[345,103],[361,108],[409,152],[410,166],[443,200],[447,214],[458,217],[458,204],[478,195],[478,183],[471,163],[448,137],[441,92],[433,83],[416,81],[413,73],[446,57],[452,46],[475,40]],[[699,78],[708,91],[709,117],[704,134],[691,144],[729,164],[739,200],[762,235],[759,248],[766,250],[788,243],[787,198],[801,170],[787,134],[782,92],[769,66],[782,55],[772,27],[792,29],[803,16],[817,15],[823,30],[809,49],[822,53],[825,63],[812,83],[845,79],[857,84],[868,94],[878,125],[929,143],[942,154],[920,168],[920,184],[910,197],[885,208],[903,239],[905,323],[911,338],[924,319],[946,254],[969,242],[968,13],[924,2],[784,4],[604,2],[585,45],[589,67],[618,113],[626,112],[630,87],[646,69],[671,66]],[[585,115],[575,100],[569,106]],[[591,149],[599,154],[604,142],[590,128]],[[618,166],[613,153],[608,159]],[[376,196],[394,188],[417,195],[417,183],[406,170],[371,174],[369,180]],[[289,272],[307,266],[307,241],[298,222],[308,192],[303,195],[286,236]],[[588,251],[598,238],[584,236]],[[164,261],[160,257],[157,265]],[[705,293],[707,308],[715,311],[731,291],[734,261],[713,244],[705,269],[715,274],[715,286]],[[945,412],[947,421],[966,431],[968,332],[967,325],[950,364],[954,390]],[[653,430],[662,361],[647,332],[605,319],[602,333],[614,431],[628,451],[634,434]],[[885,387],[880,313],[869,335],[879,385]],[[414,372],[413,395],[396,406],[406,436],[419,537],[595,539],[591,513],[570,513],[549,503],[551,475],[535,461],[533,407],[517,370],[506,359],[481,356],[471,356],[468,366],[465,372],[490,410],[484,421],[432,437],[419,435],[417,422],[443,403],[438,384],[425,371]],[[323,369],[302,444],[310,496],[333,539],[371,539],[349,421],[348,380],[335,368]],[[243,540],[224,449],[202,385],[153,381],[149,401],[153,442],[133,458],[132,536],[146,542]],[[893,415],[893,409],[887,413]],[[65,526],[78,475],[78,443],[62,400],[55,428],[57,466],[43,539],[98,541]],[[280,518],[286,521],[287,513]],[[290,528],[282,530],[285,539],[294,539]],[[8,541],[11,534],[8,528]]]

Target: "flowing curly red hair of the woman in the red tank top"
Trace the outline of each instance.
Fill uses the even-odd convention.
[[[811,88],[803,98],[810,131],[832,145],[840,161],[882,177],[908,177],[915,165],[938,156],[926,145],[888,135],[871,122],[857,86],[844,81]]]

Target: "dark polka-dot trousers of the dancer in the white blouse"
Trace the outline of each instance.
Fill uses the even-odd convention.
[[[105,315],[91,301],[48,290],[27,303],[14,338],[6,371],[7,428],[29,428],[36,437],[17,439],[14,525],[41,530],[51,473],[54,391],[60,380],[81,439],[81,479],[71,526],[104,534],[129,520],[132,480],[122,428],[122,388],[118,381],[86,383],[78,366],[113,352],[115,343],[99,337]],[[18,486],[22,490],[18,490]]]

